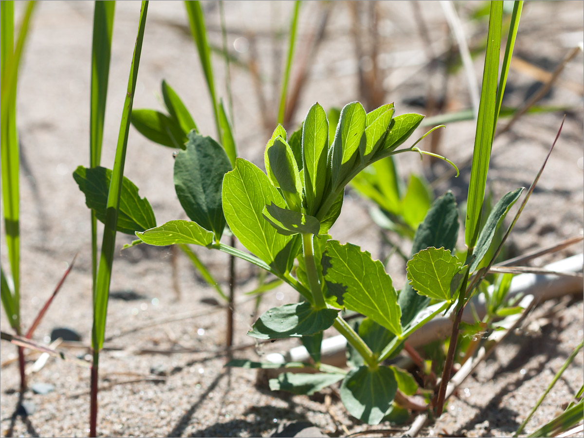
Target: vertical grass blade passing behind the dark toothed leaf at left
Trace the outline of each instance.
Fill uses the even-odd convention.
[[[112,57],[113,18],[116,2],[95,2],[93,12],[93,43],[91,51],[91,107],[89,113],[89,167],[100,165],[102,157],[103,123],[105,121],[107,81]],[[98,223],[91,210],[92,287],[98,273]]]

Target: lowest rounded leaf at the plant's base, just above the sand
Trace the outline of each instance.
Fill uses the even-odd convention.
[[[354,368],[340,386],[340,399],[355,418],[377,425],[391,409],[398,385],[394,372],[385,366],[371,370]]]

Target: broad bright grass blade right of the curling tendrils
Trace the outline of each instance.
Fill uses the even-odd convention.
[[[491,2],[488,43],[486,44],[485,68],[482,78],[481,102],[479,103],[477,132],[472,154],[471,179],[468,186],[467,217],[464,242],[469,249],[477,243],[481,224],[482,203],[485,197],[486,174],[491,158],[493,128],[495,127],[496,92],[499,74],[501,22],[503,2]]]

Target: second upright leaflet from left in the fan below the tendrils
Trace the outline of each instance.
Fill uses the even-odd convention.
[[[354,159],[354,154],[359,150],[361,140],[365,141],[364,131],[367,114],[363,105],[359,102],[347,103],[340,112],[339,126],[335,133],[335,142],[332,146],[332,183],[335,187],[346,175],[346,166]]]

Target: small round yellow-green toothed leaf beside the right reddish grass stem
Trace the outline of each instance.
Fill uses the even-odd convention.
[[[462,264],[448,249],[426,248],[407,263],[408,280],[420,295],[450,301],[450,282]]]

